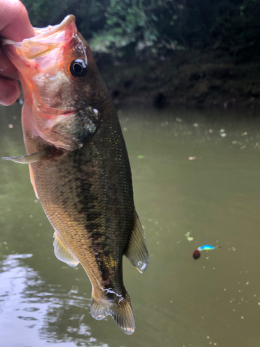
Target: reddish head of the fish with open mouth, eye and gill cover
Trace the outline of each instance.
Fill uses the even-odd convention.
[[[34,37],[21,42],[2,40],[3,50],[17,67],[26,105],[31,105],[25,117],[46,142],[68,151],[79,149],[97,124],[92,108],[84,108],[85,118],[81,117],[83,103],[78,102],[88,100],[85,90],[90,89],[87,42],[73,15],[34,31]]]

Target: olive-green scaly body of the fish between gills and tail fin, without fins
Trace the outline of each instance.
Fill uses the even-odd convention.
[[[31,167],[37,194],[53,227],[87,271],[96,295],[114,300],[112,291],[119,296],[125,291],[122,257],[135,207],[121,128],[116,117],[111,118],[108,126],[101,121],[98,132],[82,149]],[[33,142],[28,133],[26,146],[34,153],[44,143],[39,138]]]

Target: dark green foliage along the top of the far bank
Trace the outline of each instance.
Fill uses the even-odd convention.
[[[98,53],[165,58],[178,49],[259,56],[260,0],[23,0],[35,26],[69,13]]]

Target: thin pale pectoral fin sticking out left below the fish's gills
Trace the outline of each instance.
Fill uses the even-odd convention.
[[[12,162],[18,162],[19,164],[32,164],[33,162],[40,162],[46,159],[58,159],[63,157],[66,152],[60,149],[55,149],[54,147],[48,147],[42,151],[24,155],[21,157],[2,157],[3,160],[12,160]]]

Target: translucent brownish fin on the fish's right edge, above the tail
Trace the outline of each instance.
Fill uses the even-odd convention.
[[[130,260],[138,271],[141,273],[146,271],[149,263],[149,256],[146,248],[146,240],[144,239],[144,231],[136,211],[134,215],[134,228],[128,248],[125,252],[125,257],[128,257],[128,260]]]

